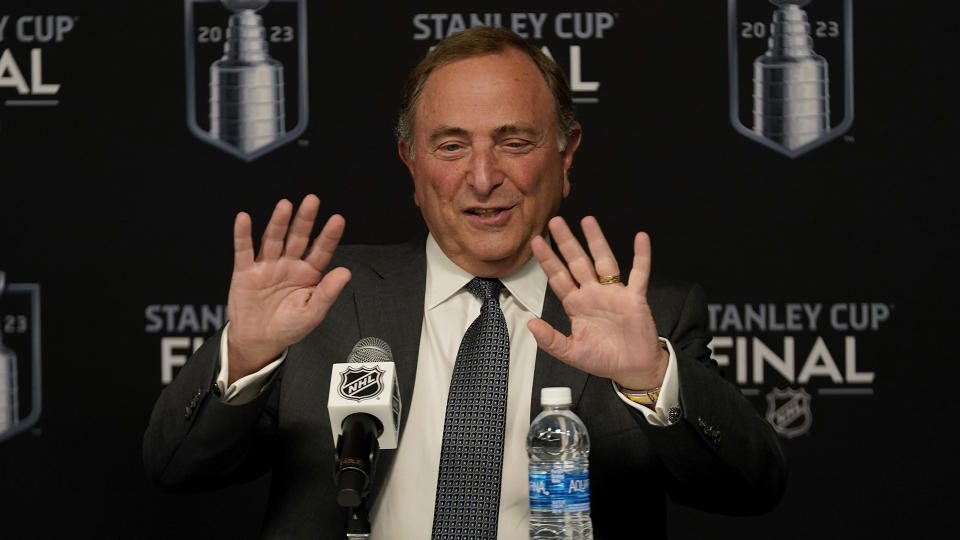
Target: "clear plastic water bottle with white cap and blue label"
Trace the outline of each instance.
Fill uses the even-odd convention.
[[[593,540],[590,436],[570,404],[569,388],[543,388],[527,432],[531,540]]]

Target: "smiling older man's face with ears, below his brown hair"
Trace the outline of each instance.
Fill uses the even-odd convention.
[[[468,58],[436,69],[414,117],[414,158],[401,141],[414,200],[458,266],[501,277],[531,255],[570,190],[579,126],[559,151],[553,96],[524,53]]]

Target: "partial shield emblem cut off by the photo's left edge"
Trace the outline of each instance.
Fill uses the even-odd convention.
[[[0,271],[0,442],[40,419],[40,286]]]

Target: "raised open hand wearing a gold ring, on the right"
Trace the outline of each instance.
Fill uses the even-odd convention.
[[[537,345],[577,369],[611,378],[625,388],[659,387],[669,354],[660,346],[647,304],[650,238],[637,233],[634,239],[627,285],[602,284],[600,276],[619,276],[620,268],[597,220],[588,216],[581,221],[592,259],[563,218],[551,219],[548,226],[566,264],[541,237],[534,238],[531,247],[570,318],[570,336],[534,319],[527,327]]]

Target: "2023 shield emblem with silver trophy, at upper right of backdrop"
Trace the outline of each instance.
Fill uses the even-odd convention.
[[[730,121],[790,158],[853,124],[853,0],[728,0]]]

